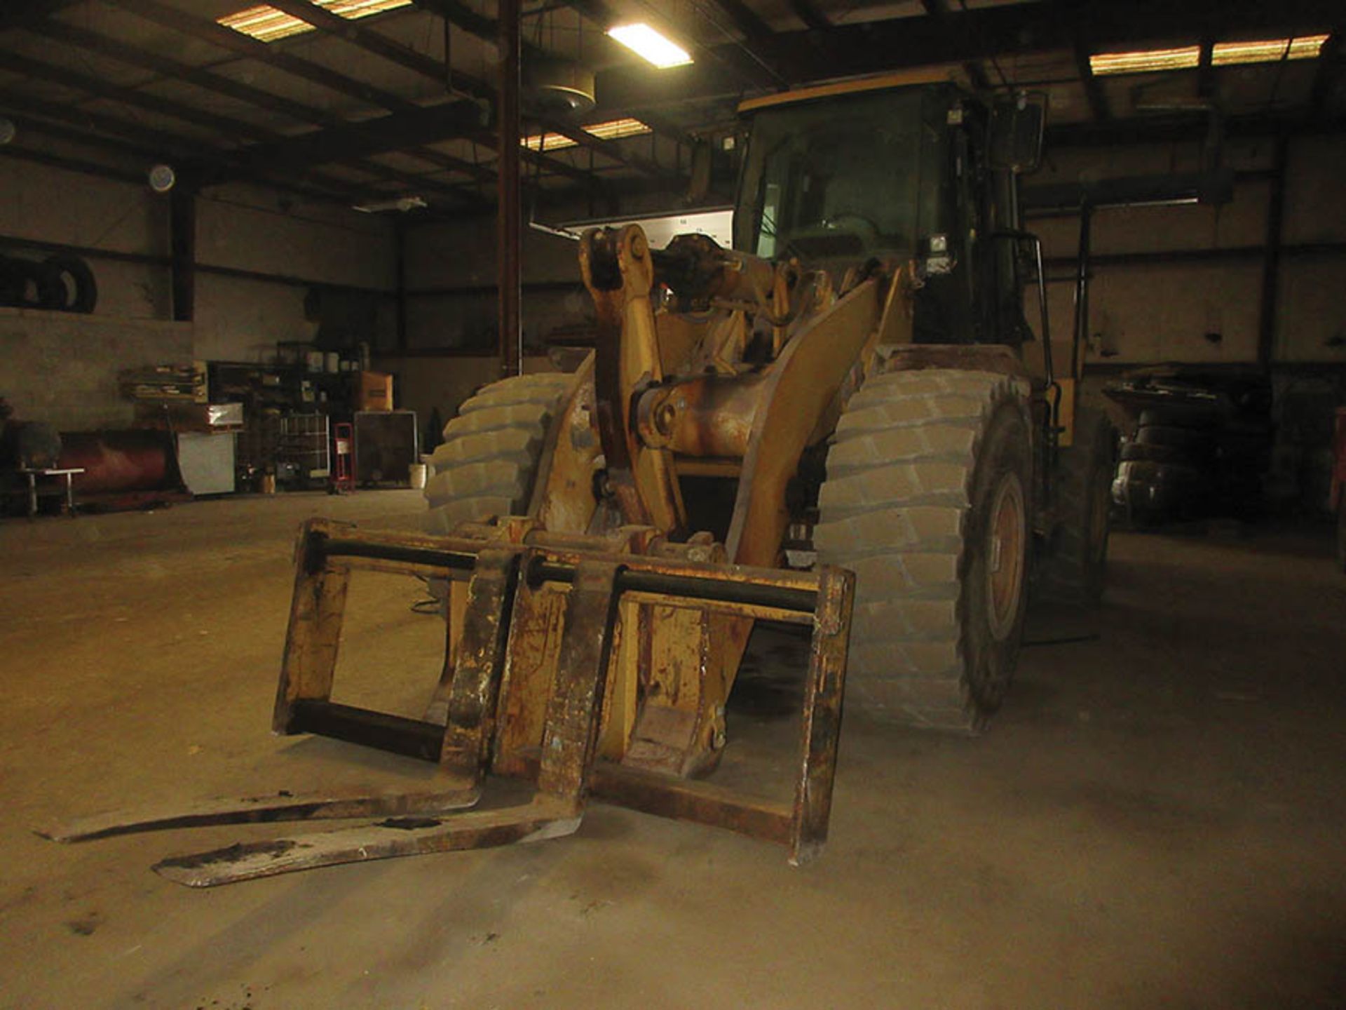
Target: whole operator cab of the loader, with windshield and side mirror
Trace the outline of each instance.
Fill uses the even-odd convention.
[[[1040,105],[988,106],[952,83],[750,101],[734,246],[836,281],[870,260],[917,263],[921,343],[1032,339],[1018,171],[1036,166]]]

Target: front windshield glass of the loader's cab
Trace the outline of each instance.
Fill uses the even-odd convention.
[[[921,110],[911,89],[756,113],[735,248],[805,261],[911,255]]]

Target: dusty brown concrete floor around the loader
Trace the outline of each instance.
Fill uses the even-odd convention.
[[[1027,649],[981,739],[849,714],[832,843],[806,869],[610,807],[571,839],[209,891],[148,867],[275,828],[31,834],[424,780],[268,733],[295,523],[421,508],[385,492],[0,524],[3,1006],[1346,1006],[1346,578],[1326,536],[1117,536],[1101,637]],[[349,656],[409,671],[412,704],[433,618],[409,613],[415,583],[366,595]]]

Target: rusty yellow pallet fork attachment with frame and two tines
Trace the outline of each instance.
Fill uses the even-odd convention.
[[[40,834],[78,842],[211,824],[366,819],[175,856],[153,867],[179,883],[209,887],[318,866],[560,838],[577,830],[586,799],[592,796],[775,842],[789,848],[791,863],[808,862],[826,840],[855,576],[833,567],[816,574],[747,568],[704,560],[708,556],[713,552],[704,540],[700,547],[670,544],[649,528],[626,527],[607,536],[553,535],[510,518],[498,525],[463,524],[452,536],[432,537],[310,520],[296,547],[273,729],[436,762],[443,788],[397,795],[284,793],[205,803],[160,816],[102,816]],[[353,570],[466,583],[458,640],[452,641],[451,626],[444,673],[423,719],[331,700]],[[529,607],[538,606],[544,590],[553,594],[560,626],[556,644],[548,640],[546,645],[545,700],[534,696],[538,679],[524,676],[514,663],[516,653],[526,649]],[[626,613],[639,606],[685,607],[812,626],[793,804],[599,758],[604,715],[618,718],[615,702],[606,695],[619,676],[614,650],[623,633],[623,605]],[[541,715],[536,746],[528,746],[528,733],[518,730],[529,722],[530,710]],[[532,800],[467,809],[481,797],[487,772],[533,780]]]

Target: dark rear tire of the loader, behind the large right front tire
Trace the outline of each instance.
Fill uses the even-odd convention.
[[[1059,524],[1038,570],[1038,595],[1093,607],[1108,568],[1108,513],[1117,434],[1102,411],[1075,411],[1073,443],[1057,452]]]

